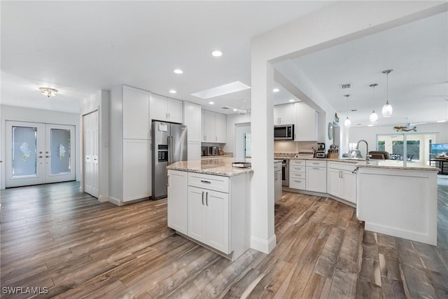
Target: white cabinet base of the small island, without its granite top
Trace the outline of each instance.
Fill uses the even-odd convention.
[[[216,249],[231,260],[241,256],[249,248],[251,239],[251,174],[218,176],[184,172],[187,179],[172,179],[172,169],[168,169],[168,172],[168,202],[172,193],[185,201],[172,206],[181,211],[169,214],[179,219],[169,218],[168,226],[203,246]],[[188,204],[188,207],[182,204]],[[169,205],[168,209],[171,209]],[[182,231],[185,215],[187,232]],[[182,223],[177,225],[182,230],[178,230],[172,223]]]

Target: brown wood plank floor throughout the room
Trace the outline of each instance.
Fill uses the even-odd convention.
[[[277,246],[234,263],[167,228],[167,200],[116,207],[78,183],[1,190],[1,286],[36,298],[448,298],[448,184],[438,246],[363,230],[354,209],[283,192]],[[1,298],[29,298],[30,294]]]

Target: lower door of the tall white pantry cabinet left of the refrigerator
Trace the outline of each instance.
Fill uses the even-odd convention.
[[[152,195],[150,142],[123,140],[123,202]]]

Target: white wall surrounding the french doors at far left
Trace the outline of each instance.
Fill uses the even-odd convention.
[[[1,158],[0,160],[5,160],[5,151],[6,151],[6,120],[15,120],[15,121],[25,121],[30,123],[52,123],[59,125],[74,125],[75,126],[75,172],[76,172],[76,181],[80,181],[81,179],[81,169],[80,169],[80,123],[79,123],[79,114],[77,113],[68,113],[68,112],[60,112],[60,111],[49,111],[49,110],[41,110],[41,109],[31,109],[25,107],[17,107],[17,106],[6,106],[1,105]],[[1,188],[5,186],[5,163],[0,163],[0,172],[1,172]]]

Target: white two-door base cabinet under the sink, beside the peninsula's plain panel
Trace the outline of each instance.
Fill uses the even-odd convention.
[[[356,204],[356,164],[328,162],[328,194]]]

